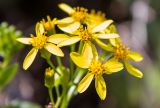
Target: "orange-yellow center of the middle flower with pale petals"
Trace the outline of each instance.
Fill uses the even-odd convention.
[[[79,36],[83,41],[91,41],[92,40],[92,35],[89,32],[87,28],[80,28],[79,29]]]

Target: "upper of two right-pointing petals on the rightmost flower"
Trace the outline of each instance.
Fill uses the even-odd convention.
[[[143,57],[141,54],[138,54],[136,52],[130,52],[128,54],[129,58],[136,61],[136,62],[139,62],[139,61],[142,61],[143,60]]]

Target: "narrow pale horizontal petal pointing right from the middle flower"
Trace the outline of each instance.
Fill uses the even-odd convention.
[[[99,39],[111,39],[111,38],[118,38],[120,37],[118,34],[96,34],[95,37]]]

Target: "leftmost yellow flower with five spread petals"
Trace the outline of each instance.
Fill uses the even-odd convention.
[[[24,59],[23,62],[23,68],[26,70],[29,68],[29,66],[34,61],[38,50],[45,48],[50,53],[63,57],[64,54],[62,50],[56,46],[57,42],[60,42],[63,40],[66,36],[63,34],[55,34],[52,36],[45,36],[44,27],[41,23],[36,24],[36,36],[31,35],[31,38],[18,38],[17,41],[23,43],[32,45],[33,48],[31,51],[27,54],[27,56]]]

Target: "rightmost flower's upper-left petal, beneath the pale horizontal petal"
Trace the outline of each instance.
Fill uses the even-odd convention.
[[[113,49],[112,46],[109,46],[109,45],[103,43],[103,42],[100,41],[99,39],[95,39],[95,41],[96,41],[96,43],[97,43],[102,49],[104,49],[104,50],[106,50],[106,51],[111,51],[111,52],[113,52],[114,49]]]

